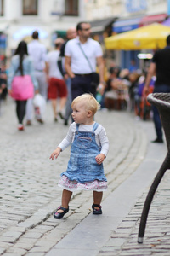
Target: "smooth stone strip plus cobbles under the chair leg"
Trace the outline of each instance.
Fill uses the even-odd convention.
[[[149,134],[148,134],[149,135]],[[149,143],[139,168],[109,195],[102,216],[88,215],[47,256],[63,255],[169,255],[170,173],[167,172],[150,207],[144,244],[138,244],[139,219],[150,183],[167,148]]]

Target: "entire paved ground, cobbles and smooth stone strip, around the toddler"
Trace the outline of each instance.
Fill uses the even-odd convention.
[[[139,218],[150,183],[167,153],[164,144],[152,144],[151,121],[135,121],[128,112],[102,112],[96,121],[105,126],[110,153],[105,160],[109,189],[103,214],[91,214],[91,192],[77,192],[71,211],[56,220],[60,204],[57,186],[65,170],[69,148],[50,161],[49,155],[68,127],[54,123],[48,103],[44,125],[34,121],[17,131],[14,103],[3,106],[1,123],[0,255],[169,255],[168,190],[166,173],[150,208],[144,244],[137,243]]]

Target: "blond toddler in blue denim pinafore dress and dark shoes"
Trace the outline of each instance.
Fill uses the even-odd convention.
[[[103,191],[107,189],[103,161],[109,150],[109,141],[104,127],[94,121],[99,103],[94,96],[83,94],[74,99],[71,108],[74,122],[50,156],[54,160],[71,145],[67,170],[61,173],[59,180],[59,186],[63,188],[61,206],[54,212],[54,218],[63,218],[69,211],[72,192],[77,189],[93,190],[93,213],[102,214],[100,203]]]

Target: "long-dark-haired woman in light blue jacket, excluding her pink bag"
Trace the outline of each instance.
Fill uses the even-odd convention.
[[[34,66],[31,56],[28,55],[27,44],[25,41],[21,41],[15,50],[14,56],[11,59],[10,67],[8,69],[8,93],[12,95],[12,82],[14,77],[19,76],[31,76],[31,81],[37,90],[37,79],[34,75]],[[23,84],[23,87],[26,84]],[[27,100],[17,100],[16,99],[16,113],[19,121],[18,129],[19,131],[24,130],[23,119],[26,114],[26,102]]]

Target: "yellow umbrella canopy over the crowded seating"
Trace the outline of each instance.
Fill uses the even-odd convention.
[[[106,49],[161,49],[166,46],[166,38],[170,35],[170,27],[153,23],[129,32],[105,38]]]

